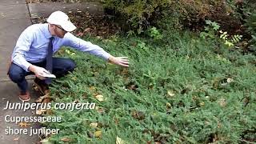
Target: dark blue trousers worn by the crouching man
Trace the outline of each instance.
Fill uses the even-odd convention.
[[[46,67],[46,61],[43,62],[30,62],[34,66]],[[72,72],[75,68],[75,62],[70,58],[53,58],[53,72],[57,78],[63,77],[68,74],[68,72]],[[21,66],[11,63],[10,69],[8,71],[9,78],[17,83],[19,89],[22,93],[25,93],[28,89],[28,84],[26,82],[26,76],[30,74],[34,74],[33,72],[26,72],[23,70]],[[44,80],[41,80],[44,82]]]

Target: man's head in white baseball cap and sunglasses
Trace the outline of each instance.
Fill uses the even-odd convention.
[[[70,18],[62,11],[55,11],[47,18],[47,22],[50,23],[50,33],[63,38],[66,32],[70,32],[76,29],[76,26],[70,22]]]

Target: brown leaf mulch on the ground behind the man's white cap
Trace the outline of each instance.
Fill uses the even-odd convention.
[[[27,0],[30,1],[30,0]],[[61,0],[31,0],[33,2],[58,2]],[[66,0],[70,1],[70,0]],[[78,0],[74,0],[78,2]],[[74,2],[72,1],[72,2]],[[62,1],[63,2],[63,1]],[[70,21],[77,26],[77,29],[72,32],[78,37],[83,37],[86,34],[107,38],[113,34],[120,32],[121,28],[114,22],[112,17],[107,14],[90,14],[88,11],[75,11],[66,13],[70,17]],[[46,18],[38,17],[32,19],[32,23],[45,23]]]

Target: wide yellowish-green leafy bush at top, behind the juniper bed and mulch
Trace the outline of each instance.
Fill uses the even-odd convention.
[[[122,18],[122,24],[126,23],[126,31],[134,30],[141,34],[148,26],[162,25],[168,22],[168,26],[180,28],[182,26],[198,28],[204,21],[210,19],[220,22],[222,18],[230,19],[234,12],[228,2],[222,0],[194,1],[194,0],[103,0],[104,6],[114,10],[117,18]],[[230,26],[228,21],[226,26]],[[221,23],[222,25],[222,23]],[[125,27],[125,26],[124,26]]]

